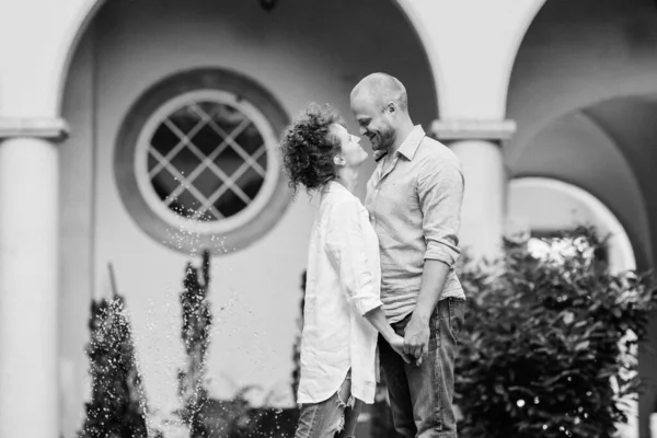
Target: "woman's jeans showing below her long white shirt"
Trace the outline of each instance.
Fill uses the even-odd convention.
[[[328,400],[301,405],[295,438],[355,437],[362,402],[350,395],[349,374]]]

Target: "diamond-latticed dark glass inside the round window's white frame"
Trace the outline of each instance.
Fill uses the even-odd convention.
[[[176,110],[153,132],[148,175],[175,214],[217,221],[242,211],[267,172],[267,150],[253,120],[239,107],[201,101]]]

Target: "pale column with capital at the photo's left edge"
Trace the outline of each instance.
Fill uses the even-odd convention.
[[[59,435],[59,119],[0,118],[0,437]]]

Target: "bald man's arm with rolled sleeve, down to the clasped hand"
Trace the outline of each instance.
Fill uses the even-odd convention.
[[[429,320],[460,255],[458,232],[463,201],[463,173],[456,157],[429,162],[417,181],[417,193],[427,242],[422,286],[404,335],[404,351],[422,364],[429,347]]]

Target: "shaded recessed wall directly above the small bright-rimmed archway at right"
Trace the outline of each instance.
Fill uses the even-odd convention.
[[[653,96],[599,101],[544,120],[531,137],[509,145],[505,160],[516,177],[553,177],[586,187],[603,199],[627,227],[637,264],[644,269],[652,264],[655,247],[652,223],[657,191],[649,164],[657,132],[652,122],[655,115]]]

